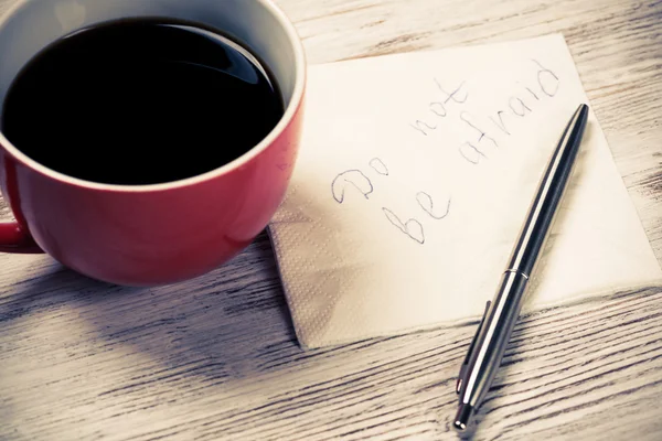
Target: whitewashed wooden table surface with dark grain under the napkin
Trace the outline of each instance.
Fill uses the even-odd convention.
[[[310,63],[563,32],[662,259],[661,1],[279,3]],[[0,439],[457,439],[473,331],[303,353],[265,236],[159,289],[3,255]],[[522,318],[474,439],[660,440],[661,417],[662,283]]]

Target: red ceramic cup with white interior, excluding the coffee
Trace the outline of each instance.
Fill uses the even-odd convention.
[[[0,251],[45,251],[118,284],[172,283],[227,261],[277,209],[299,147],[306,61],[293,25],[270,0],[19,2],[0,18],[0,112],[19,71],[46,45],[79,29],[141,17],[196,22],[241,41],[270,67],[286,104],[281,120],[260,143],[216,170],[130,186],[50,170],[12,146],[0,128],[0,189],[17,219],[0,224]]]

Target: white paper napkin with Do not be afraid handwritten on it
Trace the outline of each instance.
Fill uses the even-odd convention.
[[[312,66],[270,225],[303,347],[474,320],[588,103],[560,35]],[[662,278],[591,114],[525,309]]]

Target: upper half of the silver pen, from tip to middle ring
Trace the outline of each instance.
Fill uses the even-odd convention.
[[[572,176],[587,119],[588,107],[580,106],[560,137],[513,248],[509,270],[531,277]]]

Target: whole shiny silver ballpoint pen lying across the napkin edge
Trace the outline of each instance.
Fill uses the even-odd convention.
[[[488,302],[483,319],[469,346],[456,386],[460,404],[453,427],[458,431],[467,429],[471,416],[482,404],[501,365],[520,315],[526,284],[545,246],[567,187],[587,119],[588,106],[583,104],[570,119],[552,154],[494,300]]]

